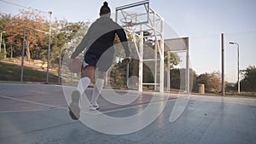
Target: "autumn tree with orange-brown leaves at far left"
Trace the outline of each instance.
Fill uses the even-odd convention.
[[[3,15],[3,14],[2,14]],[[2,17],[3,24],[1,24],[6,31],[6,45],[10,47],[10,52],[13,52],[15,47],[15,55],[20,55],[23,42],[24,27],[26,28],[26,56],[28,60],[31,59],[31,50],[34,48],[47,46],[44,42],[45,33],[35,31],[38,29],[44,32],[48,32],[49,26],[43,14],[36,10],[20,10],[20,14],[15,16],[5,15]],[[16,54],[17,52],[17,54]]]

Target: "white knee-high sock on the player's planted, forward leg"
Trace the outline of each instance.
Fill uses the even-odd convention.
[[[104,80],[103,79],[98,78],[96,80],[96,84],[95,84],[94,89],[93,89],[93,93],[92,93],[92,97],[91,97],[90,103],[96,104],[96,101],[97,101],[99,95],[102,92],[103,84],[104,84]]]

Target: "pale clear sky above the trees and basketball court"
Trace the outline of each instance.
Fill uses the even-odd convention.
[[[141,0],[108,0],[108,4],[114,12],[116,7],[139,1]],[[19,9],[26,7],[44,11],[46,15],[48,11],[52,11],[52,17],[58,20],[93,21],[98,18],[103,2],[0,0],[0,12],[15,15],[19,13]],[[221,33],[224,33],[226,81],[237,80],[237,47],[229,44],[230,41],[240,45],[240,69],[256,66],[255,0],[150,0],[149,6],[164,18],[178,37],[189,37],[190,63],[196,74],[221,72]]]

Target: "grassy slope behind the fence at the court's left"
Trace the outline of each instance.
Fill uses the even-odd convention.
[[[0,62],[0,80],[1,81],[20,81],[21,66]],[[46,82],[46,71],[39,71],[24,66],[24,82]],[[49,72],[49,83],[58,83],[58,76]]]

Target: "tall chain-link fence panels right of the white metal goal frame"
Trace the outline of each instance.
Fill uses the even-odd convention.
[[[224,81],[226,95],[255,95],[255,39],[256,32],[224,33]],[[222,72],[220,34],[189,37],[189,43],[191,49],[190,68],[195,72],[193,91],[198,91],[198,84],[205,84],[207,93],[219,94]],[[239,84],[237,83],[238,81]]]

